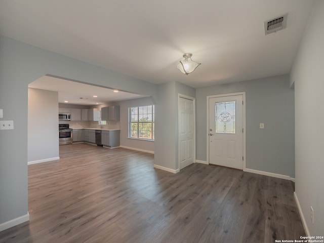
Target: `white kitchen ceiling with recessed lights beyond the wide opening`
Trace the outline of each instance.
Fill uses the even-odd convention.
[[[113,92],[113,89],[86,85],[66,79],[44,75],[28,85],[29,88],[57,91],[59,103],[76,105],[99,105],[114,101],[130,100],[144,97],[128,92]],[[97,96],[97,97],[93,97]],[[68,101],[68,102],[65,102]]]

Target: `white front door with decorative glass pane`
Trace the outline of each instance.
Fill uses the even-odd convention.
[[[243,95],[209,98],[209,163],[243,169]]]

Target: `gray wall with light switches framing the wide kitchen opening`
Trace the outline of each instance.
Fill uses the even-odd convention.
[[[157,97],[156,85],[0,36],[0,109],[15,127],[0,132],[0,225],[27,214],[28,84],[45,74]]]

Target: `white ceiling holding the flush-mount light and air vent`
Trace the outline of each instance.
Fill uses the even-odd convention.
[[[290,72],[313,1],[1,0],[0,34],[161,84],[193,88]],[[288,13],[287,28],[264,21]],[[201,65],[184,75],[183,53]]]

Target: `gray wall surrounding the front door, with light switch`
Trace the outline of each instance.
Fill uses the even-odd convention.
[[[294,178],[294,91],[287,75],[197,89],[196,158],[207,160],[207,96],[236,92],[246,92],[246,168]]]

